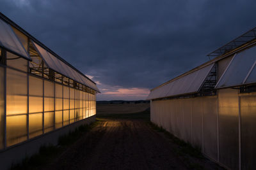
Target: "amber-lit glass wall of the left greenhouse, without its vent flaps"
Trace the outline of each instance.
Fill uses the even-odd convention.
[[[31,60],[0,48],[0,150],[95,115],[95,91],[47,67],[33,40],[12,29]]]

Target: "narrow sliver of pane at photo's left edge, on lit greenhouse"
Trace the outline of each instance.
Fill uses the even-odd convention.
[[[0,67],[0,149],[4,147],[4,68]]]

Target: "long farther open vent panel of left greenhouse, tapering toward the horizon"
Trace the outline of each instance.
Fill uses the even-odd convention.
[[[99,89],[94,83],[92,83],[92,81],[88,80],[82,74],[77,73],[76,70],[72,69],[72,67],[68,66],[60,59],[52,55],[52,53],[47,52],[47,50],[42,48],[40,45],[37,45],[34,42],[33,44],[35,45],[35,48],[38,50],[38,53],[40,53],[41,57],[45,60],[48,67],[50,67],[54,71],[57,71],[58,73],[63,74],[64,76],[72,78],[73,80],[82,83],[83,85],[86,85],[87,87],[90,87],[91,89],[99,92]]]

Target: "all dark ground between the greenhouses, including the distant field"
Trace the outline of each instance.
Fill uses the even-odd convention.
[[[40,157],[39,165],[35,160],[28,160],[20,167],[47,170],[222,169],[200,151],[150,123],[148,107],[149,104],[144,103],[101,104],[97,106],[97,122],[90,130],[62,138],[58,146],[61,151],[54,152],[45,163]]]

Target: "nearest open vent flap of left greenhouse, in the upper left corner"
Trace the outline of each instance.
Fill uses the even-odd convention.
[[[15,35],[15,33],[12,30],[12,27],[10,27],[9,24],[6,24],[3,20],[0,19],[0,45],[4,46],[5,48],[19,53],[19,55],[22,55],[22,57],[25,57],[26,59],[30,59],[28,53],[20,43],[19,39]]]

